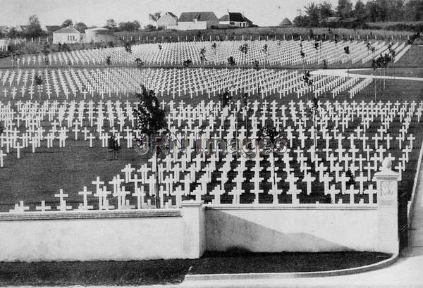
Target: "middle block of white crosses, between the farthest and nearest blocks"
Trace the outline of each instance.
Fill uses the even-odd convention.
[[[35,75],[43,79],[35,83]],[[327,94],[335,98],[349,92],[353,98],[372,83],[357,77],[312,75],[312,85],[303,81],[298,71],[287,70],[245,70],[245,69],[43,69],[0,71],[0,99],[69,99],[72,97],[101,99],[112,96],[126,96],[140,89],[140,83],[153,89],[159,96],[190,96],[209,99],[223,92],[231,95],[248,96],[259,94],[268,97],[278,94],[279,98],[294,94],[300,97]]]

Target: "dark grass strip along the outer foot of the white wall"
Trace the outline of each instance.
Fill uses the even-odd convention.
[[[176,284],[186,274],[286,273],[354,268],[384,261],[385,253],[207,252],[200,259],[0,263],[1,285]]]

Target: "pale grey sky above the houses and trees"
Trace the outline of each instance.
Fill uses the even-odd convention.
[[[309,2],[312,0],[0,0],[0,25],[25,25],[35,14],[42,25],[61,25],[71,18],[73,23],[104,26],[113,18],[117,23],[138,20],[144,27],[150,23],[148,14],[157,11],[177,16],[183,11],[213,11],[220,18],[229,9],[244,13],[259,26],[276,26],[283,18],[293,20],[297,9]],[[338,0],[329,2],[336,7]]]

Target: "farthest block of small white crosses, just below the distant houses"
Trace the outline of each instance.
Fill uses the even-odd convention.
[[[225,65],[228,57],[232,56],[235,63],[252,64],[258,61],[260,65],[301,65],[302,63],[366,63],[379,56],[388,49],[388,42],[374,42],[375,52],[369,51],[365,41],[319,41],[315,48],[315,41],[299,40],[238,40],[225,42],[176,42],[161,44],[137,44],[128,53],[124,47],[86,49],[70,52],[55,52],[47,56],[48,63],[54,65],[104,65],[106,57],[111,57],[113,64],[133,64],[139,58],[143,63],[153,65],[182,65],[190,59],[196,65]],[[247,45],[247,53],[240,50],[240,46]],[[264,47],[267,48],[264,48]],[[350,54],[345,54],[344,47],[348,46]],[[407,47],[405,43],[391,43],[396,49],[398,58],[400,52]],[[204,51],[203,53],[201,51]],[[305,56],[300,56],[300,51]],[[44,65],[43,55],[25,56],[18,60],[20,65]]]

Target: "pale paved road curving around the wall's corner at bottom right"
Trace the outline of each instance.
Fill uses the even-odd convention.
[[[278,280],[185,282],[181,287],[423,287],[423,167],[410,215],[408,247],[396,263],[367,273]]]

